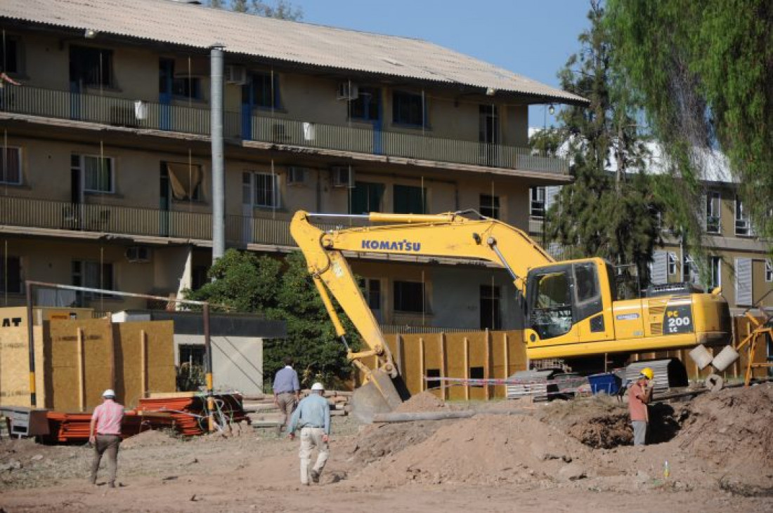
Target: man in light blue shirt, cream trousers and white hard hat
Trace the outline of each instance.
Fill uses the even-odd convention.
[[[330,437],[330,407],[325,397],[325,386],[322,383],[312,385],[312,393],[298,403],[288,424],[288,436],[295,438],[295,430],[301,428],[301,448],[298,457],[301,458],[301,484],[308,485],[308,478],[315,483],[330,456],[328,441]],[[317,448],[317,462],[311,470],[312,450]]]

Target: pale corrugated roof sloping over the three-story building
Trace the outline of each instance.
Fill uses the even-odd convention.
[[[263,18],[171,0],[2,0],[0,18],[298,62],[308,66],[458,83],[587,103],[421,39]]]

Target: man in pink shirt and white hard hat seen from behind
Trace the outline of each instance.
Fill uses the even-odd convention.
[[[94,446],[94,460],[91,462],[91,484],[97,484],[97,471],[102,454],[107,451],[107,485],[115,488],[115,472],[118,468],[118,446],[121,445],[121,420],[124,406],[115,402],[115,392],[105,390],[102,403],[91,413],[89,442]]]

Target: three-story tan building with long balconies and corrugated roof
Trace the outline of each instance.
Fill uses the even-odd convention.
[[[225,60],[226,245],[294,249],[292,214],[475,209],[526,228],[528,106],[579,96],[431,42],[171,0],[0,2],[2,303],[31,279],[180,295],[212,262],[212,46]],[[506,328],[514,289],[470,262],[356,255],[385,324]],[[142,299],[39,289],[37,305]]]

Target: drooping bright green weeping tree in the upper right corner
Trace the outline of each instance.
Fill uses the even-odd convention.
[[[773,2],[608,0],[606,25],[669,157],[676,180],[662,191],[690,246],[700,248],[717,149],[758,235],[773,240]]]

